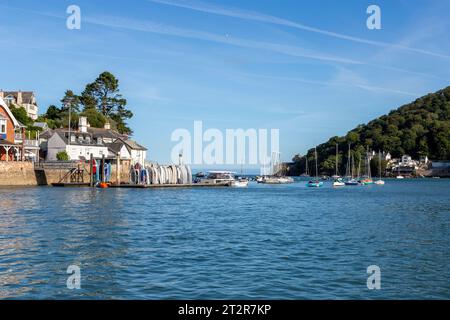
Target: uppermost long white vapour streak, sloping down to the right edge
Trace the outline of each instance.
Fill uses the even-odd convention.
[[[443,53],[418,49],[418,48],[409,47],[409,46],[406,46],[403,44],[398,44],[398,43],[388,43],[388,42],[382,42],[382,41],[363,39],[363,38],[354,37],[354,36],[350,36],[350,35],[346,35],[346,34],[342,34],[342,33],[337,33],[337,32],[332,32],[332,31],[328,31],[328,30],[324,30],[324,29],[319,29],[316,27],[307,26],[307,25],[304,25],[304,24],[301,24],[301,23],[298,23],[295,21],[275,17],[272,15],[262,14],[262,13],[254,12],[254,11],[246,11],[246,10],[237,9],[237,8],[220,7],[220,6],[205,4],[202,2],[173,1],[173,0],[148,0],[148,1],[154,2],[154,3],[159,3],[159,4],[164,4],[164,5],[170,5],[170,6],[190,9],[190,10],[195,10],[195,11],[200,11],[200,12],[205,12],[205,13],[212,13],[212,14],[221,15],[221,16],[227,16],[227,17],[233,17],[233,18],[239,18],[239,19],[245,19],[245,20],[265,22],[265,23],[270,23],[270,24],[275,24],[275,25],[280,25],[280,26],[286,26],[286,27],[291,27],[291,28],[295,28],[295,29],[299,29],[299,30],[314,32],[317,34],[321,34],[321,35],[325,35],[325,36],[329,36],[329,37],[333,37],[333,38],[338,38],[338,39],[342,39],[342,40],[353,41],[353,42],[358,42],[358,43],[363,43],[363,44],[368,44],[368,45],[373,45],[373,46],[378,46],[378,47],[396,48],[396,49],[402,49],[402,50],[415,52],[415,53],[419,53],[419,54],[429,55],[429,56],[433,56],[433,57],[450,59],[449,55],[446,55]]]

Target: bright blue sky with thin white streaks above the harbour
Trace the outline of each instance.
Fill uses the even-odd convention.
[[[66,8],[81,8],[81,30]],[[366,27],[379,5],[382,29]],[[177,128],[279,128],[283,160],[448,86],[450,2],[0,1],[0,88],[41,111],[108,70],[149,158]]]

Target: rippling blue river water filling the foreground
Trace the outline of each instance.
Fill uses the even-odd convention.
[[[450,180],[0,189],[0,298],[450,299],[449,271]]]

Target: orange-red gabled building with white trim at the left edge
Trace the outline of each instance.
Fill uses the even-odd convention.
[[[16,120],[5,101],[0,97],[0,161],[23,160],[25,127]]]

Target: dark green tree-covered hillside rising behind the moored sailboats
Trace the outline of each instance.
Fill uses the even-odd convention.
[[[335,147],[339,144],[340,170],[347,162],[348,144],[356,159],[366,148],[390,152],[393,157],[403,154],[413,158],[428,156],[432,160],[450,160],[450,87],[428,94],[389,114],[359,125],[344,137],[332,137],[317,146],[319,170],[332,173]],[[305,171],[305,157],[296,155],[292,174]],[[314,149],[308,151],[308,164],[314,168]],[[342,172],[342,171],[341,171]]]

